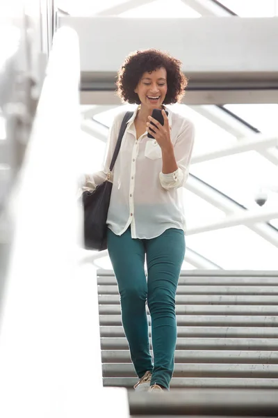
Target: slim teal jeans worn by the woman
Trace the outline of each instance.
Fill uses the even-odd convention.
[[[151,385],[156,383],[166,389],[174,371],[175,296],[185,249],[181,229],[167,229],[150,240],[131,238],[130,228],[122,235],[108,229],[108,253],[119,288],[131,361],[138,378],[151,371]],[[146,302],[152,320],[154,362],[149,352]]]

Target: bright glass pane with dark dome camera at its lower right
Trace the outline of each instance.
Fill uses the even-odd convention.
[[[190,171],[250,209],[257,207],[254,196],[259,189],[278,178],[277,167],[255,151],[193,164]],[[276,196],[270,197],[272,205]]]

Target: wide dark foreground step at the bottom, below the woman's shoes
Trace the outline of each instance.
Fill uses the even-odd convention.
[[[277,417],[275,389],[172,389],[163,396],[129,391],[131,416]]]

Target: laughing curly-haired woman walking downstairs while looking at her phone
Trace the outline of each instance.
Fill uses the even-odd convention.
[[[139,378],[137,391],[169,390],[174,370],[175,295],[185,254],[182,186],[188,178],[194,127],[170,109],[167,117],[164,105],[179,102],[186,85],[181,62],[156,49],[129,54],[117,77],[120,97],[139,106],[126,125],[110,179],[108,254]],[[164,125],[151,117],[153,109],[162,109]],[[83,190],[95,189],[105,180],[123,116],[117,115],[111,127],[104,171],[86,176]],[[147,137],[148,132],[154,139]],[[154,363],[146,302],[152,318]]]

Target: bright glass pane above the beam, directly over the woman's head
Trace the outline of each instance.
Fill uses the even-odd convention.
[[[157,0],[143,6],[133,8],[119,15],[120,17],[200,17],[193,8],[186,6],[181,0]]]

